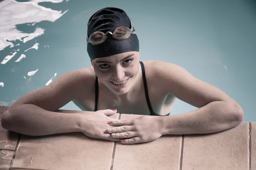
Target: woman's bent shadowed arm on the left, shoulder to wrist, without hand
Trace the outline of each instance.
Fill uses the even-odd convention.
[[[79,131],[81,112],[55,111],[76,97],[81,77],[81,71],[72,71],[50,85],[24,95],[1,116],[3,128],[35,136]]]

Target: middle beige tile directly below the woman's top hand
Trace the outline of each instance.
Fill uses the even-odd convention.
[[[122,114],[121,119],[141,115]],[[181,136],[162,136],[148,143],[116,143],[113,170],[179,170]]]

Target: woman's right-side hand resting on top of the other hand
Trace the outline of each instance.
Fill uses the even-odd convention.
[[[111,120],[109,125],[119,126],[108,128],[113,139],[123,138],[122,144],[150,142],[162,136],[159,116],[141,116],[130,120]],[[124,139],[131,138],[131,139]]]

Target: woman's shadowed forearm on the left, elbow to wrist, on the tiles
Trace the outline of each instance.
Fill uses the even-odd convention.
[[[64,111],[58,111],[64,112]],[[36,105],[11,106],[1,117],[5,129],[32,136],[79,131],[81,113],[57,113]]]

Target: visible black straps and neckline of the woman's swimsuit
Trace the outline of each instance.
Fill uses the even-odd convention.
[[[150,111],[150,115],[151,116],[160,116],[157,113],[154,113],[151,104],[150,104],[150,100],[149,100],[149,96],[148,96],[148,86],[147,86],[147,80],[146,80],[146,75],[145,75],[145,68],[143,65],[143,62],[140,61],[140,65],[141,65],[141,70],[142,70],[142,77],[143,77],[143,85],[144,85],[144,90],[145,90],[145,97],[147,100],[147,104],[148,104],[148,109]],[[96,77],[95,80],[95,107],[94,107],[94,111],[97,111],[97,106],[98,106],[98,99],[99,99],[99,84],[98,84],[98,77]],[[168,116],[170,113],[168,113],[167,115],[164,116]]]

